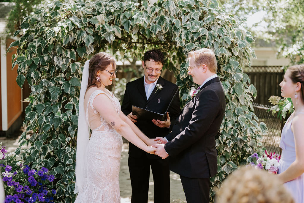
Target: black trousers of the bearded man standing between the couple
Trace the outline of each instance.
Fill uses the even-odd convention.
[[[131,203],[148,202],[150,166],[154,180],[154,203],[170,203],[169,166],[166,159],[147,159],[129,155],[131,178]]]

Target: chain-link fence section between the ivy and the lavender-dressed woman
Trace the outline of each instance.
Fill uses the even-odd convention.
[[[269,112],[269,105],[262,105],[253,103],[254,113],[259,118],[259,122],[264,122],[268,128],[268,134],[264,135],[260,142],[267,149],[267,152],[275,152],[281,154],[281,148],[279,147],[281,140],[281,129],[283,122],[277,115],[273,115]]]

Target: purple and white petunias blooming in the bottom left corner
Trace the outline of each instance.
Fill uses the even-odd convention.
[[[3,147],[1,143],[0,146]],[[55,177],[48,173],[47,168],[42,167],[37,171],[27,165],[23,166],[21,161],[17,160],[16,154],[10,153],[0,159],[0,170],[6,194],[5,202],[54,203],[56,190],[52,188],[52,182]]]

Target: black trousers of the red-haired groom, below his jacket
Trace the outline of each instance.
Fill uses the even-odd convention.
[[[210,178],[180,177],[187,203],[209,203]]]

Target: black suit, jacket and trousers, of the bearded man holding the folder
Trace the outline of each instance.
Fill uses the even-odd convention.
[[[164,114],[174,93],[178,90],[178,86],[162,77],[158,78],[157,84],[160,84],[163,88],[157,89],[155,86],[147,99],[144,77],[128,82],[121,106],[122,112],[125,115],[130,114],[130,112],[132,112],[132,105],[134,105]],[[174,97],[168,112],[171,121],[170,128],[160,128],[152,121],[141,121],[140,119],[137,120],[135,125],[149,138],[165,137],[171,131],[174,121],[180,112],[178,93]],[[144,152],[132,143],[129,143],[128,165],[132,184],[132,202],[147,202],[150,166],[154,180],[154,202],[170,202],[170,178],[167,160],[162,160],[157,155]]]

